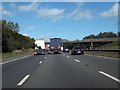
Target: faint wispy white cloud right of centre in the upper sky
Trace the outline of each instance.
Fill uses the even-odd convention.
[[[67,17],[75,20],[93,19],[95,17],[92,15],[92,13],[93,13],[92,10],[81,10],[80,7],[78,6],[75,10],[69,13]]]

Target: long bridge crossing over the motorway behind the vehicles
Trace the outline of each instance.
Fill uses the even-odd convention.
[[[107,44],[114,41],[118,41],[118,38],[100,38],[100,39],[85,39],[85,40],[76,40],[76,41],[64,41],[62,44],[77,44],[84,45],[93,48],[94,44]],[[45,42],[45,44],[50,44],[50,42]]]

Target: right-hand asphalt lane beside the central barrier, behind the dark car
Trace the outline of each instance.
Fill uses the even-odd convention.
[[[65,53],[66,55],[69,55],[69,53]],[[83,65],[89,65],[96,71],[105,71],[112,76],[119,77],[118,76],[118,63],[120,63],[120,60],[116,59],[109,59],[109,58],[103,58],[103,57],[96,57],[96,56],[88,56],[88,55],[70,55],[73,59],[78,59],[83,63]]]

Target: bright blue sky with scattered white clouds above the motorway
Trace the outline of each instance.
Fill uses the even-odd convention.
[[[82,39],[90,34],[118,32],[115,2],[4,2],[2,19],[17,22],[20,33],[38,39]]]

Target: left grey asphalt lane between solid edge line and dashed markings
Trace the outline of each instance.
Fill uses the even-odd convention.
[[[30,56],[2,65],[3,88],[16,88],[17,83],[27,74],[32,74],[39,67],[44,55]]]

